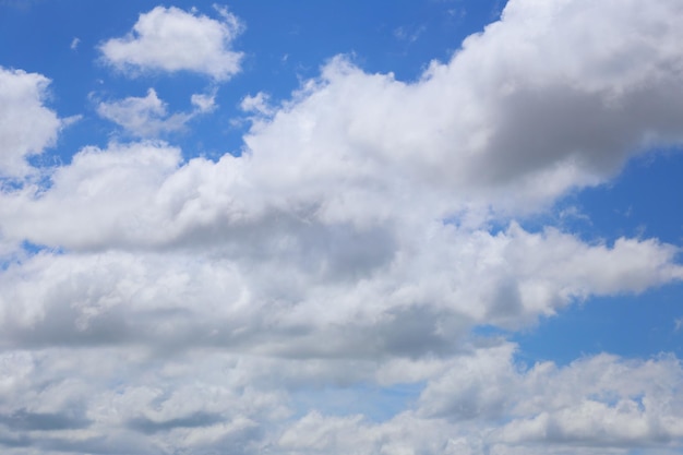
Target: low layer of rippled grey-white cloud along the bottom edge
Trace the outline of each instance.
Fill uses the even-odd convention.
[[[11,454],[675,453],[678,360],[599,355],[527,368],[514,351],[503,344],[439,362],[417,403],[382,421],[320,409],[297,416],[292,387],[324,371],[311,361],[226,350],[164,358],[143,347],[4,352],[0,438]],[[378,367],[385,368],[367,364],[359,379]]]

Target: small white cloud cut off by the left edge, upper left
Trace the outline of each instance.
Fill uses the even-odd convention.
[[[24,177],[26,158],[55,144],[63,121],[44,105],[49,82],[0,67],[0,177]]]

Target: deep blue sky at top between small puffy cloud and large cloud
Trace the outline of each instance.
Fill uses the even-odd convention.
[[[265,3],[267,14],[263,14]],[[467,7],[457,1],[350,0],[309,2],[307,8],[252,1],[235,3],[231,11],[249,27],[241,38],[244,48],[267,49],[265,55],[248,57],[247,71],[268,68],[291,83],[316,76],[320,65],[339,53],[354,55],[368,72],[415,80],[432,59],[450,59],[465,36],[480,32],[496,7],[491,0]]]

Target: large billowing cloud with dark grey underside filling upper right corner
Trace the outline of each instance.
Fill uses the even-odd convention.
[[[338,169],[336,158],[486,204],[547,202],[602,181],[648,146],[679,143],[680,14],[675,1],[513,1],[416,83],[333,60],[247,143],[274,173],[285,155],[298,172],[310,163]],[[604,17],[586,34],[586,20]],[[288,176],[292,185],[304,177]]]

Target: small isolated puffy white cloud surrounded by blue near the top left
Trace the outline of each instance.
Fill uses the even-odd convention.
[[[195,11],[156,7],[140,15],[130,34],[100,46],[105,60],[129,74],[136,70],[192,71],[216,81],[240,71],[242,53],[231,49],[243,25],[227,10],[221,20]]]

